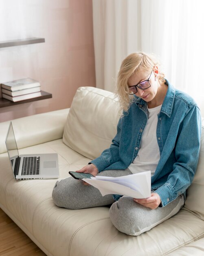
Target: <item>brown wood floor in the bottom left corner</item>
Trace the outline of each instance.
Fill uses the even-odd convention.
[[[46,256],[0,209],[0,256]]]

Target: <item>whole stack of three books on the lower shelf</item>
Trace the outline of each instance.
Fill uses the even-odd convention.
[[[31,78],[1,84],[2,98],[17,102],[41,96],[40,83]]]

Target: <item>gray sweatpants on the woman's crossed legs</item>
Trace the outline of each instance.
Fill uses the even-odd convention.
[[[129,169],[102,171],[98,175],[118,177],[132,174]],[[59,207],[84,209],[110,205],[110,220],[121,232],[138,236],[178,213],[184,204],[180,195],[165,207],[152,210],[134,202],[133,198],[123,196],[115,201],[112,195],[102,196],[94,186],[86,186],[81,180],[68,177],[57,181],[53,189],[53,201]]]

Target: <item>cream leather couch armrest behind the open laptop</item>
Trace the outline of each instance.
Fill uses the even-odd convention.
[[[18,148],[62,138],[69,108],[11,120]],[[7,152],[5,138],[10,121],[0,123],[0,153]]]

